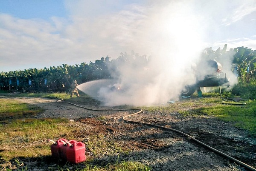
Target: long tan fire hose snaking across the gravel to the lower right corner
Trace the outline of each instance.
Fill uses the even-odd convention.
[[[201,142],[201,141],[195,139],[194,137],[192,137],[192,136],[190,136],[190,135],[188,135],[188,134],[185,134],[185,133],[183,133],[183,132],[181,132],[181,131],[178,131],[178,130],[176,130],[176,129],[167,128],[167,127],[160,126],[160,125],[154,125],[154,124],[151,124],[151,123],[143,123],[143,122],[139,122],[139,121],[131,121],[131,120],[125,119],[125,118],[127,118],[127,117],[131,117],[131,116],[134,116],[134,115],[136,115],[136,114],[140,114],[140,113],[143,111],[142,109],[136,109],[136,108],[134,108],[134,109],[118,109],[118,110],[92,109],[92,108],[86,108],[86,107],[81,106],[81,105],[76,105],[76,104],[70,103],[70,102],[64,102],[64,101],[62,101],[62,100],[64,100],[64,99],[58,100],[57,102],[58,102],[58,103],[69,103],[69,104],[71,104],[71,105],[75,105],[75,106],[77,106],[77,107],[79,107],[79,108],[84,108],[84,109],[90,110],[90,111],[134,111],[134,110],[137,110],[138,112],[136,112],[136,113],[129,114],[129,115],[126,115],[126,116],[122,117],[122,120],[124,120],[124,121],[127,122],[127,123],[138,123],[138,124],[143,124],[143,125],[158,127],[158,128],[166,129],[166,130],[169,130],[169,131],[177,132],[177,133],[179,133],[179,134],[184,135],[185,137],[189,137],[190,139],[194,140],[194,141],[197,142],[198,144],[203,145],[203,146],[206,147],[206,148],[209,148],[211,151],[213,151],[213,152],[215,152],[215,153],[217,153],[217,154],[220,154],[220,155],[222,155],[222,156],[224,156],[224,157],[227,157],[227,158],[230,159],[230,160],[233,160],[234,162],[238,163],[239,165],[244,166],[245,168],[248,168],[248,169],[251,170],[251,171],[256,171],[256,168],[253,168],[253,167],[251,167],[250,165],[245,164],[244,162],[241,162],[241,161],[239,161],[239,160],[236,160],[235,158],[233,158],[233,157],[231,157],[231,156],[229,156],[229,155],[227,155],[227,154],[225,154],[225,153],[223,153],[223,152],[221,152],[221,151],[218,151],[217,149],[212,148],[211,146],[205,144],[204,142]]]

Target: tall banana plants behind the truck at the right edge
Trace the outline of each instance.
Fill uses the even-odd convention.
[[[216,51],[206,48],[202,57],[215,59],[220,63],[227,57],[231,57],[230,68],[239,80],[239,83],[232,88],[232,94],[244,99],[256,98],[256,50],[238,47],[227,51],[227,44],[225,44],[223,49],[218,48]]]

